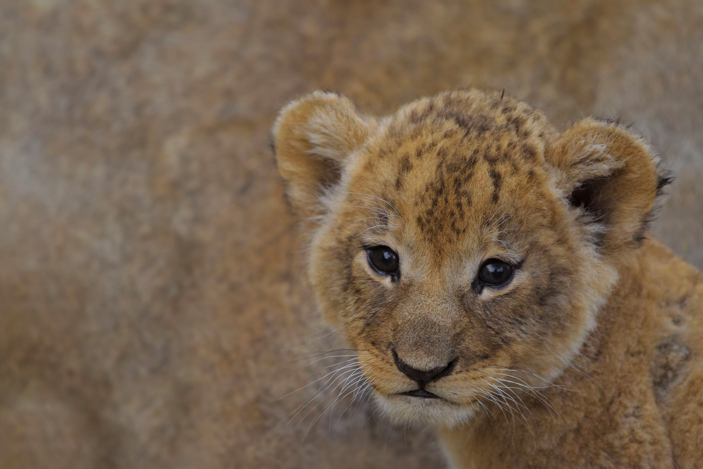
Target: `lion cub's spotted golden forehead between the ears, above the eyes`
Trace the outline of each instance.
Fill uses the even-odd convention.
[[[554,134],[541,113],[498,93],[441,93],[385,122],[349,187],[392,202],[425,237],[458,237],[498,207],[543,192]]]

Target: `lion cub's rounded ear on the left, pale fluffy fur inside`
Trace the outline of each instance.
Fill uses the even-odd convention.
[[[278,171],[299,216],[321,213],[319,197],[340,180],[344,160],[366,141],[375,119],[347,98],[315,91],[288,103],[273,125]]]

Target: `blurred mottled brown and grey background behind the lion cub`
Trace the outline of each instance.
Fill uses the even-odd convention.
[[[703,267],[701,1],[1,1],[0,467],[441,467],[363,402],[290,417],[344,345],[268,138],[318,88],[460,86],[633,124]]]

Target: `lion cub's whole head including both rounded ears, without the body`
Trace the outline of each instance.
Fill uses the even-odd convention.
[[[659,187],[623,128],[586,119],[559,134],[479,91],[383,119],[313,93],[273,133],[318,303],[399,421],[453,425],[489,390],[515,399],[557,376]]]

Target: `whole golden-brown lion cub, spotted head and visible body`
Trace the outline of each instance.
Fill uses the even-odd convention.
[[[273,127],[325,317],[454,468],[703,467],[703,284],[647,239],[669,178],[627,128],[499,93]]]

